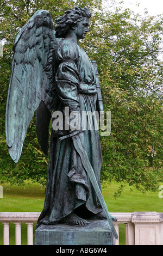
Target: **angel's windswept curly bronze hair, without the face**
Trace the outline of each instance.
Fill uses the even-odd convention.
[[[72,26],[77,26],[83,17],[90,19],[91,11],[89,8],[74,7],[65,11],[63,16],[55,20],[57,23],[55,27],[55,37],[65,38],[65,35],[71,30]]]

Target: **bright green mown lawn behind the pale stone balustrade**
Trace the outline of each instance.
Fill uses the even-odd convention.
[[[156,211],[162,212],[162,201],[158,192],[142,194],[126,186],[121,197],[114,199],[117,184],[108,184],[102,188],[109,212]],[[0,198],[1,212],[41,212],[45,198],[45,187],[26,182],[22,186],[3,184],[3,198]],[[162,200],[162,201],[161,201]],[[35,229],[35,225],[34,225]],[[22,245],[27,244],[27,225],[21,225]],[[120,245],[125,244],[124,224],[120,225]],[[3,245],[3,224],[0,224],[0,245]],[[15,224],[10,223],[10,245],[15,245]]]

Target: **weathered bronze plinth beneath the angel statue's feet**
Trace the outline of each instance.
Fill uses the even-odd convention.
[[[35,245],[114,245],[107,220],[90,221],[86,227],[41,224],[35,230]]]

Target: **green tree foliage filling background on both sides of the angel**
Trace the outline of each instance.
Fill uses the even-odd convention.
[[[111,1],[110,1],[111,4]],[[102,181],[135,186],[142,192],[158,189],[162,179],[162,17],[141,17],[129,9],[105,13],[102,1],[77,0],[90,7],[90,32],[80,45],[97,61],[104,109],[111,111],[111,135],[101,137]],[[12,162],[5,143],[5,105],[10,78],[12,44],[21,27],[38,9],[50,11],[53,21],[74,1],[1,1],[0,40],[0,180],[21,184],[46,181],[47,163],[36,138],[35,117],[24,141],[21,159]]]

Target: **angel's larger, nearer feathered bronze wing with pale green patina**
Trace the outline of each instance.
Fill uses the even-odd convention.
[[[15,39],[5,125],[14,162],[20,159],[27,129],[40,102],[48,113],[45,118],[48,122],[51,119],[55,102],[51,65],[55,43],[52,17],[45,10],[36,11]]]

